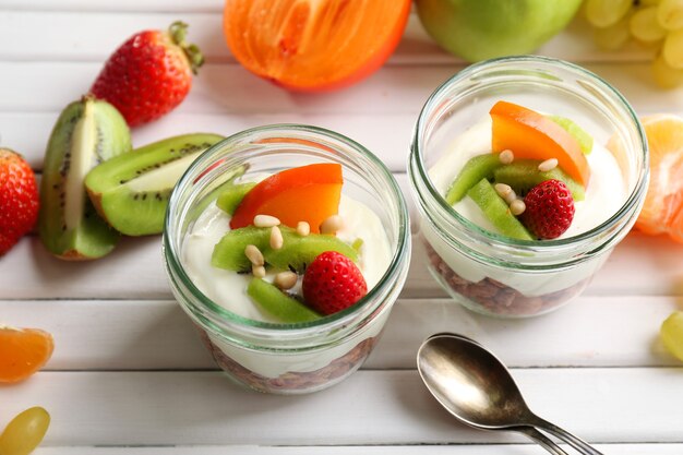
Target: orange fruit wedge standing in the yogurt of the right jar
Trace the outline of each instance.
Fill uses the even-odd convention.
[[[494,153],[510,148],[515,159],[556,158],[559,166],[584,188],[590,180],[590,167],[580,145],[572,134],[551,119],[531,109],[498,101],[489,112],[493,120]]]

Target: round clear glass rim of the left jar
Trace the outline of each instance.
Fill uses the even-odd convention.
[[[315,321],[280,324],[263,322],[241,316],[223,308],[218,303],[214,302],[204,292],[202,292],[185,273],[179,258],[181,244],[176,244],[172,241],[172,239],[170,238],[170,232],[177,234],[172,226],[172,220],[175,215],[177,214],[177,211],[179,211],[179,195],[184,190],[187,190],[187,188],[195,184],[199,179],[205,177],[205,173],[207,173],[206,171],[211,170],[211,166],[216,163],[216,158],[219,158],[221,154],[225,153],[225,149],[227,147],[229,147],[230,145],[239,144],[242,144],[243,146],[254,144],[254,142],[250,141],[250,137],[254,135],[262,135],[275,139],[297,139],[293,137],[292,134],[297,135],[297,137],[303,136],[301,139],[309,140],[311,142],[316,142],[316,140],[332,140],[339,145],[348,147],[348,151],[352,151],[352,154],[361,157],[361,159],[367,160],[367,163],[373,167],[372,170],[373,172],[375,172],[374,175],[379,175],[382,182],[386,184],[387,190],[390,190],[390,193],[392,194],[396,203],[396,206],[398,208],[397,236],[396,248],[393,251],[393,255],[387,270],[384,272],[378,284],[372,289],[370,289],[368,294],[361,298],[361,300],[343,311],[327,316],[323,316]],[[274,142],[269,142],[271,145]],[[323,147],[328,146],[329,143],[323,145]],[[337,152],[337,149],[333,149],[335,151],[335,153]],[[232,156],[232,154],[239,154],[239,151],[230,152],[230,156]],[[254,127],[232,134],[207,148],[204,153],[202,153],[200,157],[197,157],[192,163],[192,165],[178,181],[169,200],[164,229],[164,255],[166,258],[167,267],[169,268],[169,277],[171,279],[179,279],[180,283],[189,290],[189,292],[199,300],[202,307],[199,310],[203,310],[202,314],[208,314],[211,316],[212,324],[215,324],[216,321],[220,321],[223,324],[228,325],[232,330],[237,330],[238,332],[248,331],[252,336],[256,337],[259,335],[278,336],[283,334],[308,334],[314,336],[319,333],[327,333],[334,330],[342,330],[352,321],[356,321],[356,319],[359,318],[359,314],[368,311],[370,311],[371,313],[372,311],[374,311],[375,308],[382,306],[383,295],[387,294],[391,290],[393,280],[400,274],[400,265],[403,263],[406,251],[409,252],[409,218],[405,199],[400,189],[398,188],[398,184],[396,183],[394,176],[386,168],[382,160],[380,160],[374,154],[372,154],[361,144],[337,132],[308,124],[277,123]],[[376,302],[375,299],[378,300]],[[375,304],[372,304],[373,302]],[[194,312],[195,309],[192,310]],[[362,319],[364,319],[364,316]],[[220,330],[224,328],[225,327],[223,326],[220,327]]]

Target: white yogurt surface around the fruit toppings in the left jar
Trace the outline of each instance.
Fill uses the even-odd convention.
[[[342,195],[339,215],[344,228],[337,237],[348,243],[360,238],[363,243],[359,251],[360,268],[368,289],[372,289],[388,268],[392,250],[378,215],[366,204]],[[278,322],[261,311],[247,296],[247,285],[251,274],[238,274],[211,265],[214,246],[230,230],[230,216],[212,203],[196,219],[185,235],[182,247],[182,264],[192,283],[220,307],[243,318],[263,322]],[[266,279],[272,280],[274,272]]]

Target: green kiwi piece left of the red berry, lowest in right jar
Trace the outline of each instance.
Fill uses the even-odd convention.
[[[507,203],[495,192],[489,180],[481,179],[467,191],[483,214],[503,236],[519,240],[534,240],[524,225],[510,212]]]

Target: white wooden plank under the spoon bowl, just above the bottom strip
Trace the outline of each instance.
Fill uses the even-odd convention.
[[[683,442],[680,402],[672,399],[683,394],[681,368],[512,373],[532,409],[587,441]],[[248,392],[217,372],[47,372],[0,387],[0,403],[3,416],[34,405],[48,409],[46,446],[523,441],[455,422],[415,370],[360,371],[299,397]]]

